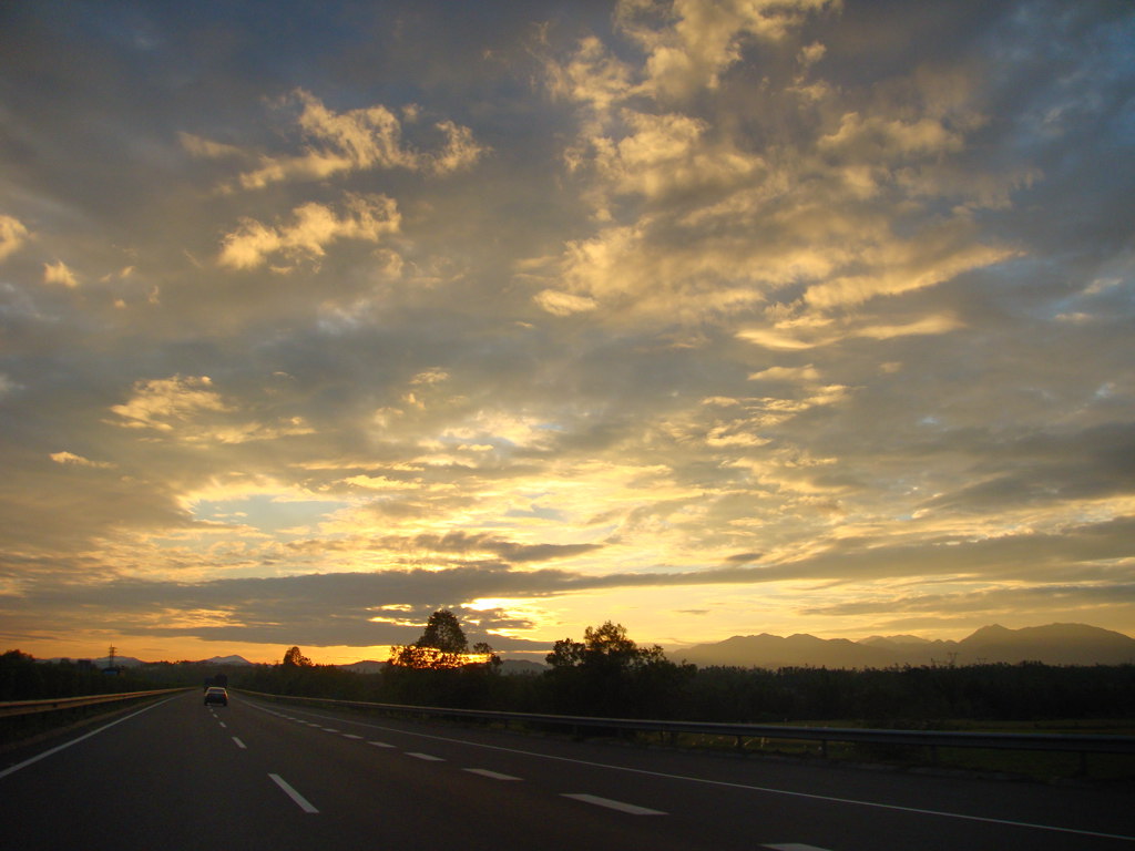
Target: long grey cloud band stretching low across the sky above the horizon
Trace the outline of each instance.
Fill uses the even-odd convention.
[[[0,596],[0,609],[6,612],[10,629],[12,625],[18,627],[24,621],[22,612],[34,610],[39,617],[50,617],[58,624],[74,622],[78,626],[75,618],[82,617],[84,629],[114,623],[119,633],[129,634],[363,647],[411,641],[420,634],[421,624],[430,612],[447,606],[454,608],[463,621],[477,620],[479,626],[471,632],[486,635],[499,649],[531,649],[546,647],[548,642],[491,634],[495,630],[528,627],[530,623],[518,622],[515,615],[502,608],[484,609],[474,604],[481,599],[547,599],[565,593],[615,589],[722,585],[735,591],[741,585],[768,585],[783,581],[834,579],[846,584],[852,579],[863,582],[934,575],[952,576],[957,582],[973,585],[968,591],[949,595],[959,601],[966,598],[970,603],[978,601],[981,595],[989,593],[983,584],[1019,582],[1025,576],[1028,576],[1034,597],[1056,593],[1061,587],[1078,585],[1084,590],[1076,591],[1076,596],[1083,598],[1086,593],[1100,600],[1109,589],[1129,589],[1127,574],[1108,565],[1116,558],[1135,555],[1130,545],[1133,522],[1132,519],[1124,519],[1088,524],[1067,529],[1060,534],[1022,534],[981,541],[943,540],[930,550],[923,545],[878,546],[877,541],[848,540],[815,556],[783,564],[734,564],[665,573],[586,575],[550,568],[518,571],[502,565],[481,565],[199,582],[119,579],[92,584],[53,580],[43,584],[32,583],[18,597],[10,593]],[[557,551],[518,548],[512,542],[463,534],[427,537],[414,544],[456,553],[469,553],[470,548],[495,550],[519,556],[520,559],[554,557]],[[1085,571],[1083,582],[1068,583],[1058,579],[1062,573],[1067,575],[1069,565],[1093,563],[1100,566],[1094,572]],[[1034,564],[1040,566],[1040,572],[1031,567]],[[1088,581],[1088,576],[1094,579]],[[1096,590],[1092,591],[1092,588]],[[1020,589],[1016,592],[1019,593]],[[893,593],[888,599],[893,600]],[[939,603],[941,605],[934,606],[924,596],[910,596],[905,600],[900,598],[897,606],[898,610],[907,612],[919,607],[927,612],[944,610],[945,599]],[[999,605],[1006,604],[1007,600]],[[882,605],[864,598],[821,606],[812,604],[807,608],[816,612],[832,608],[854,614],[880,610]],[[396,612],[397,616],[393,616],[392,612]]]

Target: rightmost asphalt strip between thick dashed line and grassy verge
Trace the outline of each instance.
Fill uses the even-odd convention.
[[[1119,789],[1054,787],[872,772],[830,764],[799,765],[620,748],[520,736],[477,728],[363,719],[325,709],[267,705],[293,723],[356,725],[370,741],[403,752],[430,752],[463,768],[477,767],[541,784],[548,793],[585,792],[666,811],[671,836],[715,848],[753,848],[739,829],[765,836],[782,829],[829,848],[923,849],[1132,848],[1135,821]],[[535,753],[539,751],[539,753]],[[477,765],[472,765],[476,761]],[[566,789],[566,778],[587,789]],[[692,815],[689,815],[692,814]],[[706,817],[706,814],[713,814]],[[676,823],[682,821],[684,826]],[[1092,834],[1104,834],[1093,836]],[[1070,844],[1071,843],[1071,844]],[[693,844],[691,846],[698,846]]]

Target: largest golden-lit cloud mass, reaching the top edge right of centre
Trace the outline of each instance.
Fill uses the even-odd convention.
[[[564,295],[589,300],[607,322],[697,322],[802,290],[802,307],[831,313],[1019,256],[972,218],[974,209],[1008,204],[1009,188],[1023,180],[1020,172],[975,171],[972,158],[960,166],[987,124],[976,75],[933,68],[863,93],[814,79],[818,100],[801,109],[792,93],[832,54],[810,41],[799,43],[791,67],[772,66],[751,107],[732,96],[731,86],[742,84],[725,71],[742,64],[747,43],[797,43],[809,20],[840,9],[818,1],[623,2],[616,26],[645,51],[641,64],[617,59],[596,39],[582,40],[566,64],[549,61],[549,90],[580,110],[565,161],[591,178],[586,197],[597,228],[565,244],[560,283],[545,284],[537,302],[570,315],[578,307]],[[697,106],[693,94],[703,99]],[[798,112],[789,132],[770,134],[763,148],[738,132],[785,109]],[[939,197],[953,197],[955,209],[927,203]],[[832,330],[815,342],[751,334],[788,351],[846,337]],[[947,330],[927,321],[880,326],[877,335]]]

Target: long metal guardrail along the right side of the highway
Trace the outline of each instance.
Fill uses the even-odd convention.
[[[274,700],[294,700],[323,706],[352,709],[370,709],[386,713],[423,715],[427,717],[474,718],[479,721],[510,722],[520,724],[556,725],[571,727],[603,727],[651,733],[692,733],[737,739],[738,747],[748,739],[777,739],[818,741],[821,751],[827,755],[829,742],[851,742],[863,744],[897,744],[928,748],[983,748],[997,750],[1035,750],[1079,753],[1135,753],[1135,736],[1075,734],[1075,733],[990,733],[957,732],[944,730],[871,730],[856,727],[808,727],[780,724],[721,724],[696,721],[646,721],[639,718],[594,718],[578,715],[537,715],[533,713],[507,713],[480,709],[448,709],[434,706],[409,706],[404,703],[370,703],[361,700],[330,700],[328,698],[305,698],[294,694],[264,694],[244,691],[245,694]]]

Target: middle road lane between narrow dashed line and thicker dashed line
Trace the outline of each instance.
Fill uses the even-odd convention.
[[[594,807],[580,814],[580,804],[546,790],[473,775],[436,753],[347,739],[348,722],[287,721],[241,698],[233,709],[250,750],[274,753],[280,773],[320,810],[337,848],[691,848],[662,831],[644,833],[623,814]]]

